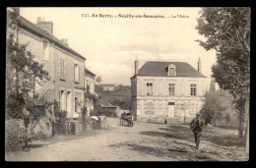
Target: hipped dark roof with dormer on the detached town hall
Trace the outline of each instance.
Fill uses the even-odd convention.
[[[207,78],[191,65],[185,62],[158,62],[147,61],[139,70],[137,76],[154,76],[154,77],[169,77],[167,76],[167,66],[173,64],[176,66],[175,77],[195,77]],[[171,76],[173,77],[173,76]]]

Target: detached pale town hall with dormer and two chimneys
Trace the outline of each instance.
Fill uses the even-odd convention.
[[[185,62],[135,61],[132,114],[138,121],[188,123],[204,103],[207,77]]]

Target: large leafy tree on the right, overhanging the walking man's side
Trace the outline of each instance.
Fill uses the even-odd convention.
[[[250,8],[246,7],[203,8],[196,27],[207,38],[206,41],[197,40],[200,45],[206,50],[217,51],[213,77],[221,88],[233,95],[233,103],[240,111],[240,137],[245,102],[250,99],[250,16]]]

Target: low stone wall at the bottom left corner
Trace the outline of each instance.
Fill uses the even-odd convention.
[[[23,149],[22,140],[26,134],[23,119],[9,119],[5,121],[5,150],[17,151]]]

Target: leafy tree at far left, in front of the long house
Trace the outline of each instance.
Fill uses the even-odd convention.
[[[32,60],[33,55],[27,51],[29,43],[19,43],[19,8],[7,10],[7,41],[6,41],[6,78],[7,78],[7,114],[14,118],[22,118],[25,105],[20,90],[23,84],[31,86],[34,82],[50,80],[43,64]],[[16,104],[16,105],[15,105]],[[15,114],[16,113],[16,114]]]

